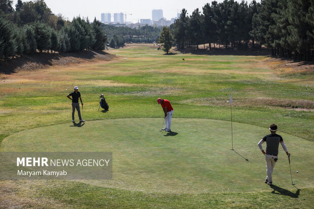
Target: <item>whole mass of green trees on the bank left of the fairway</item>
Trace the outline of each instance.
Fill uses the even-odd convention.
[[[101,23],[76,17],[65,21],[51,13],[44,0],[0,0],[0,59],[37,51],[65,53],[103,50],[107,36]]]

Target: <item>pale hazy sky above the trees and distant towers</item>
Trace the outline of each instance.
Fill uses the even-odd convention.
[[[216,0],[217,1],[217,0]],[[29,2],[22,0],[22,2]],[[151,19],[151,10],[162,9],[164,17],[170,20],[177,16],[177,12],[184,8],[188,14],[193,10],[202,7],[212,1],[205,0],[45,0],[47,6],[51,11],[57,15],[62,14],[65,18],[72,20],[73,17],[80,15],[81,17],[88,17],[92,21],[95,17],[100,20],[101,13],[127,13],[127,21],[137,22],[140,19]],[[218,0],[217,2],[223,2]],[[237,1],[241,2],[241,1]],[[251,1],[248,1],[250,3]],[[257,0],[260,2],[260,0]],[[17,0],[13,1],[15,4]],[[132,14],[132,15],[129,15]],[[111,20],[113,18],[111,17]]]

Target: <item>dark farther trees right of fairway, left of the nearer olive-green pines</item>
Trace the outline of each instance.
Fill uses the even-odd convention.
[[[225,0],[222,3],[207,3],[203,7],[203,13],[195,9],[187,16],[185,9],[180,18],[171,25],[174,39],[179,49],[185,46],[200,45],[207,43],[211,49],[212,43],[224,45],[226,48],[247,47],[253,39],[250,35],[252,30],[252,18],[257,10],[257,3],[252,1],[250,5],[242,1],[240,4],[233,0]],[[253,39],[254,43],[254,39]],[[215,45],[214,45],[215,47]]]

